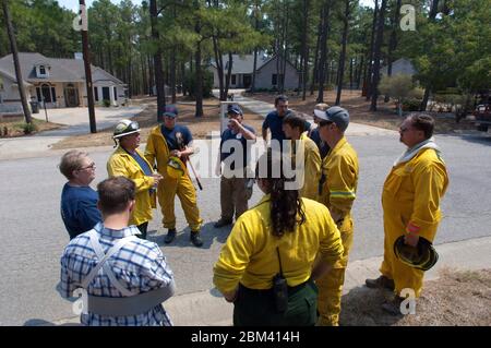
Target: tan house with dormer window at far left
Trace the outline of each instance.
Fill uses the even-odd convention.
[[[84,61],[81,59],[47,58],[40,53],[19,53],[27,101],[45,101],[47,108],[87,106]],[[12,55],[0,59],[0,110],[21,107],[19,84]],[[92,65],[94,100],[112,106],[124,103],[125,84]]]

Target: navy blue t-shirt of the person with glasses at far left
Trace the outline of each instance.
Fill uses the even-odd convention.
[[[61,192],[61,218],[70,239],[86,232],[103,220],[97,201],[99,195],[89,187],[72,187],[65,183]]]

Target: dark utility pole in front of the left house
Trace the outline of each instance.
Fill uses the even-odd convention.
[[[92,85],[91,52],[88,51],[87,10],[85,8],[85,0],[79,0],[79,4],[80,32],[82,33],[82,51],[85,67],[85,85],[87,88],[88,122],[91,124],[91,133],[97,133],[94,110],[94,87]]]

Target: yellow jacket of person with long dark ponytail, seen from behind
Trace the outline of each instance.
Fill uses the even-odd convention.
[[[270,200],[265,195],[233,225],[214,267],[213,281],[221,292],[233,291],[239,281],[250,289],[270,289],[279,273],[276,248],[290,287],[310,278],[318,253],[331,265],[342,257],[339,231],[325,206],[301,199],[306,221],[295,232],[277,238],[272,235]]]

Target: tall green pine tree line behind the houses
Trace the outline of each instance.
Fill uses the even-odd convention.
[[[403,4],[415,9],[416,31],[402,31],[400,21],[411,21],[400,13]],[[71,28],[74,13],[57,1],[16,0],[10,7],[20,51],[48,57],[81,51],[79,33]],[[409,59],[426,109],[430,96],[447,88],[468,96],[490,88],[490,19],[491,0],[373,0],[373,7],[358,0],[146,0],[137,5],[96,0],[88,9],[88,33],[93,63],[127,83],[130,97],[155,89],[160,110],[182,87],[196,99],[195,116],[202,116],[206,68],[212,62],[218,68],[224,100],[232,55],[254,55],[255,70],[260,52],[278,57],[278,75],[287,61],[295,65],[301,76],[296,91],[303,99],[315,94],[324,101],[326,89],[335,88],[338,105],[344,88],[362,89],[371,110],[380,100],[381,68],[391,75],[394,61]],[[7,34],[0,32],[0,55],[8,52]],[[282,79],[277,89],[285,89]]]

